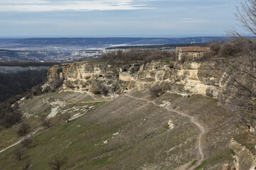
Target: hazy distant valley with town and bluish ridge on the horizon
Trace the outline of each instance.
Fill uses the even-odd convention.
[[[25,38],[0,39],[0,62],[70,62],[100,57],[112,50],[198,45],[224,37],[196,38]],[[155,46],[154,46],[155,45]],[[161,45],[161,46],[158,46]]]

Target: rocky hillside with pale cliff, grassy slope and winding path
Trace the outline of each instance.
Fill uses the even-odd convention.
[[[254,169],[255,69],[225,43],[50,67],[43,94],[11,106],[23,116],[0,129],[1,169]]]

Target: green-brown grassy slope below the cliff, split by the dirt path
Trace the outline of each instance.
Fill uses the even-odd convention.
[[[135,91],[131,94],[146,95]],[[63,101],[91,100],[68,92],[40,97],[50,96]],[[230,114],[218,107],[215,100],[203,96],[182,98],[164,94],[157,102],[162,101],[170,101],[171,107],[176,106],[176,109],[196,116],[207,126],[209,132],[203,141],[207,156],[207,162],[203,164],[205,169],[218,169],[218,163],[230,159],[226,144],[233,126],[223,124],[228,123],[225,121]],[[30,106],[28,103],[24,106]],[[72,103],[69,108],[78,103]],[[22,161],[16,161],[13,153],[20,145],[1,153],[0,169],[22,169],[28,160],[33,165],[30,169],[49,169],[48,162],[56,156],[68,157],[65,165],[68,169],[175,169],[196,160],[199,130],[187,118],[128,96],[95,104],[95,110],[70,123],[64,123],[61,115],[55,118],[51,128],[33,137],[33,146],[26,149]],[[173,130],[166,128],[169,120],[174,123]]]

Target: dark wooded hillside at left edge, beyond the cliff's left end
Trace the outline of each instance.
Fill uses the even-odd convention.
[[[44,83],[53,64],[56,63],[0,62],[0,103]]]

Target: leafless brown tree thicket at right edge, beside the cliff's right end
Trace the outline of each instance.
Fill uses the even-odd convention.
[[[218,60],[212,68],[222,82],[218,99],[229,111],[237,113],[242,123],[256,128],[256,40],[236,37],[223,42],[220,49],[226,43],[228,52],[218,52],[225,60]]]

